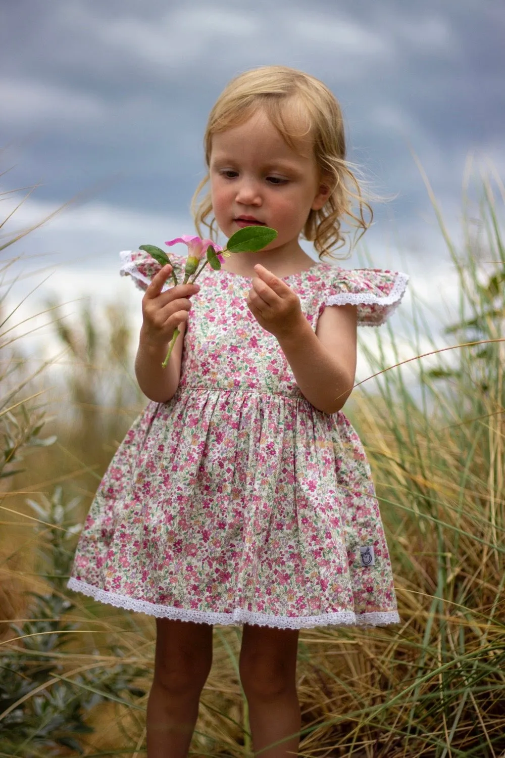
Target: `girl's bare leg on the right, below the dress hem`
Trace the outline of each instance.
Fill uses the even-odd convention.
[[[301,729],[296,691],[299,629],[244,625],[240,679],[248,699],[254,752]],[[293,758],[298,735],[260,753],[258,758]]]

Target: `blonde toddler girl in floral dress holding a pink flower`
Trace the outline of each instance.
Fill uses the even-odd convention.
[[[279,758],[298,753],[300,629],[399,621],[369,463],[342,408],[357,324],[382,324],[408,277],[322,260],[344,243],[341,221],[363,233],[370,209],[319,80],[282,66],[236,77],[204,146],[198,233],[264,224],[278,236],[207,265],[198,287],[170,286],[170,265],[145,252],[121,254],[145,290],[136,377],[151,402],[101,481],[68,586],[156,616],[149,758],[188,754],[214,624],[242,626],[254,750],[277,742],[262,755]]]

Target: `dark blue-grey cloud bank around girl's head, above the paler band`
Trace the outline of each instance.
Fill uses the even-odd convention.
[[[351,159],[379,193],[399,193],[378,218],[408,224],[426,208],[406,138],[447,198],[470,148],[505,153],[505,16],[482,0],[23,0],[3,14],[0,144],[35,133],[16,175],[42,178],[42,199],[120,174],[104,201],[185,215],[211,105],[232,76],[269,63],[307,70],[341,100]]]

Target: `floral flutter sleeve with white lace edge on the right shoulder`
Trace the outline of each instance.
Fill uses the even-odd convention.
[[[326,287],[325,305],[357,305],[358,326],[379,327],[397,309],[409,277],[381,268],[337,268]]]

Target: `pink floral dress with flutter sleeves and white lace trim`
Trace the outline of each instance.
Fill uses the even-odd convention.
[[[121,274],[145,290],[160,265],[145,252],[120,255]],[[408,277],[317,262],[283,279],[315,331],[326,306],[345,303],[357,305],[358,324],[379,326]],[[149,402],[117,449],[68,587],[207,624],[398,622],[356,431],[342,411],[324,413],[301,393],[276,337],[248,309],[251,278],[207,265],[198,283],[179,387],[168,402]]]

